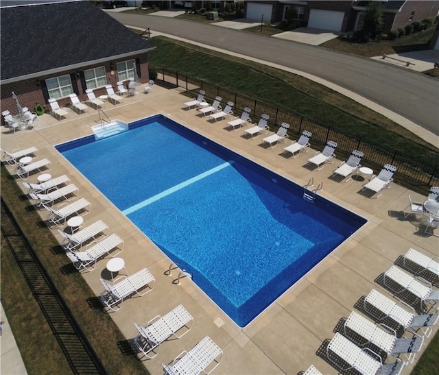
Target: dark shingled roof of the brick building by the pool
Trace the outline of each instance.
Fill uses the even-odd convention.
[[[154,48],[91,1],[5,7],[0,12],[1,81]]]

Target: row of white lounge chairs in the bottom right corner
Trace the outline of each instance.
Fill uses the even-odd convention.
[[[392,266],[383,274],[383,287],[392,291],[394,297],[403,291],[413,293],[419,298],[421,310],[425,312],[418,315],[414,307],[403,300],[397,302],[372,289],[362,299],[360,306],[365,315],[371,317],[374,322],[352,311],[343,324],[342,332],[336,332],[327,345],[327,359],[337,370],[342,372],[356,370],[360,374],[367,375],[401,374],[405,365],[413,363],[414,356],[421,350],[425,337],[429,337],[433,332],[433,327],[439,320],[438,308],[435,306],[439,302],[439,291],[431,289],[431,285],[427,286],[429,284],[427,280],[419,279],[417,276],[425,275],[427,272],[438,278],[437,257],[430,258],[417,250],[410,249],[402,258],[403,267],[412,270],[415,276],[410,276],[399,267]],[[394,285],[399,287],[395,289]],[[412,311],[407,311],[407,307]],[[436,313],[427,312],[426,307],[436,310]],[[413,336],[399,337],[394,328],[396,326]],[[396,362],[383,363],[383,354],[377,351],[386,356],[395,356]],[[405,356],[405,360],[401,360],[401,355]],[[342,359],[346,365],[340,365],[338,359]],[[321,373],[311,365],[304,374]]]

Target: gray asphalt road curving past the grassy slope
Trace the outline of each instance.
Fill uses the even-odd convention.
[[[382,62],[321,47],[161,16],[111,13],[143,27],[297,69],[366,97],[439,135],[439,81]]]

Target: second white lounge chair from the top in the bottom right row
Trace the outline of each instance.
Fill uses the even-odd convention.
[[[392,287],[389,285],[389,281],[393,281],[393,284],[399,285],[399,287]],[[439,302],[439,291],[431,289],[431,284],[423,278],[415,278],[393,265],[385,271],[383,283],[385,287],[396,295],[403,291],[410,291],[410,293],[416,295],[420,299],[420,309],[422,311],[425,311],[423,303],[436,309],[436,311],[438,310],[434,305]],[[427,287],[425,284],[429,286]]]

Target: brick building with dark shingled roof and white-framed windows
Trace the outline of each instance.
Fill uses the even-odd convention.
[[[22,106],[49,98],[60,106],[69,94],[87,98],[104,86],[138,77],[149,81],[147,53],[154,47],[90,1],[60,1],[0,8],[1,110],[16,112],[12,91]]]

